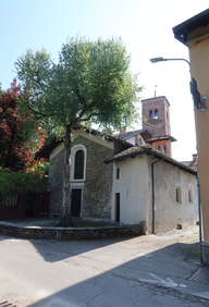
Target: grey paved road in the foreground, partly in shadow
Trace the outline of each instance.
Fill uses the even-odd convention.
[[[198,235],[46,241],[0,236],[0,300],[17,307],[209,306]],[[205,275],[206,274],[205,272]]]

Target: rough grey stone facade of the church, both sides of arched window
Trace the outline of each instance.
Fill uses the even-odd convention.
[[[106,140],[103,140],[106,143]],[[113,149],[78,135],[72,144],[84,145],[87,149],[86,180],[83,182],[83,211],[87,218],[111,219],[113,165],[103,160],[113,156]],[[62,207],[64,149],[50,159],[49,188],[50,213],[60,213]]]

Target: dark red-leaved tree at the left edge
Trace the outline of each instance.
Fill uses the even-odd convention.
[[[34,165],[34,155],[24,135],[24,125],[27,122],[24,116],[17,114],[16,98],[22,99],[14,79],[11,89],[0,94],[0,167],[13,172],[23,172]],[[34,150],[42,146],[42,130],[39,130]]]

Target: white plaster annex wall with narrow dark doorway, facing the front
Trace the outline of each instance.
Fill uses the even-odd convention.
[[[116,180],[116,169],[120,177]],[[134,159],[113,164],[113,188],[111,219],[115,220],[115,193],[120,193],[120,222],[137,224],[147,220],[147,191],[148,191],[147,156],[137,156]]]

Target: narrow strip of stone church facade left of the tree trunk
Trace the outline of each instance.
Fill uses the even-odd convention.
[[[49,212],[60,213],[62,206],[64,149],[50,159],[49,165],[49,189],[51,192]]]

